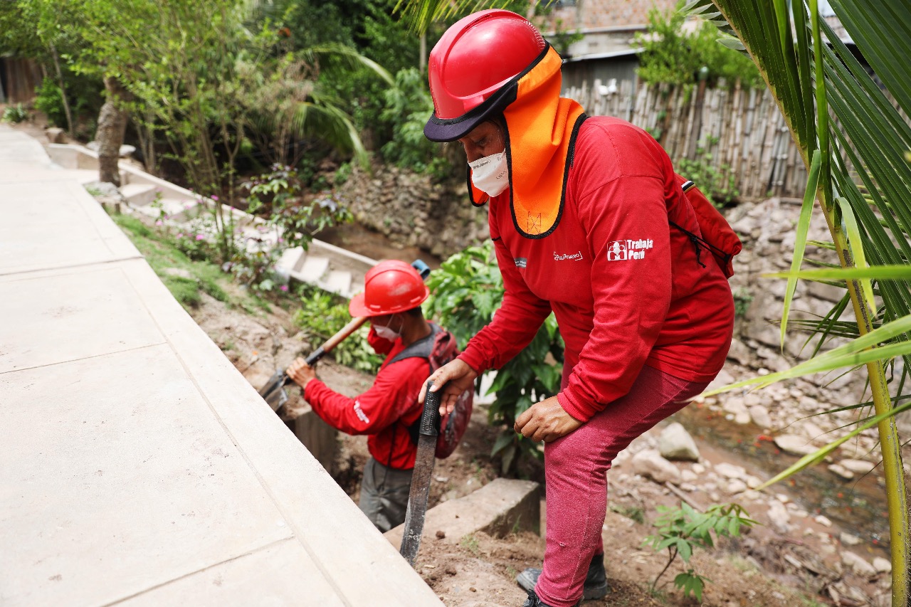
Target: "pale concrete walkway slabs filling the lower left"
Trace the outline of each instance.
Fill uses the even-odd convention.
[[[0,126],[0,604],[441,604],[35,140]]]

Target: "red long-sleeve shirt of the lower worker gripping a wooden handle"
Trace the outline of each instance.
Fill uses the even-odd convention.
[[[355,398],[343,396],[319,379],[312,379],[304,389],[304,398],[313,411],[330,426],[347,434],[366,434],[370,455],[390,468],[415,468],[417,446],[408,435],[408,427],[421,416],[417,395],[430,376],[430,363],[425,358],[404,358],[389,365],[404,350],[401,339],[389,342],[370,328],[367,341],[377,354],[386,358],[374,385]]]

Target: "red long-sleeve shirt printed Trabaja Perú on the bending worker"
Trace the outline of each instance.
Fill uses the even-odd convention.
[[[619,118],[583,123],[558,225],[544,238],[518,233],[509,190],[488,204],[506,293],[459,356],[467,365],[506,364],[553,310],[567,346],[558,400],[580,421],[629,392],[642,365],[689,381],[721,370],[731,288],[711,254],[701,252],[701,267],[686,234],[670,228],[669,218],[701,235],[648,133]]]

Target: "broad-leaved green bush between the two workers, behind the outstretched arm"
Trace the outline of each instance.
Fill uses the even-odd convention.
[[[496,266],[493,244],[455,253],[427,280],[431,296],[425,312],[455,334],[459,345],[490,322],[503,300],[503,278]],[[499,455],[503,474],[522,457],[541,458],[537,444],[513,430],[516,418],[537,401],[554,396],[560,386],[563,339],[551,314],[527,347],[496,372],[488,390],[496,401],[487,412],[493,426],[505,426],[491,450]],[[478,383],[478,388],[480,383]]]

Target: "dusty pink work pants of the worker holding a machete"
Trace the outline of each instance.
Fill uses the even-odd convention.
[[[601,527],[611,462],[633,438],[686,406],[686,399],[707,385],[643,366],[626,396],[545,445],[547,548],[535,587],[541,601],[551,607],[578,602],[592,556],[604,552]]]

